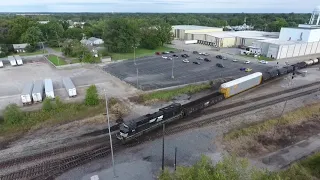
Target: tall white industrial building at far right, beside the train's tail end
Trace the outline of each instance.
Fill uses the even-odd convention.
[[[309,24],[281,28],[279,39],[258,40],[253,42],[253,47],[274,59],[320,53],[320,6],[314,9]]]

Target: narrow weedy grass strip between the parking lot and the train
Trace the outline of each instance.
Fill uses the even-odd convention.
[[[140,95],[138,98],[139,99],[138,102],[148,104],[149,102],[156,102],[156,101],[170,101],[175,96],[178,96],[180,94],[194,94],[210,88],[211,88],[211,85],[209,83],[203,83],[203,84],[192,84],[192,85],[188,85],[188,86],[184,86],[176,89],[155,91],[152,93]]]

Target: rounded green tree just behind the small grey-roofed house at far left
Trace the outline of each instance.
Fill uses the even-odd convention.
[[[31,46],[36,46],[43,40],[41,29],[37,26],[28,28],[28,30],[21,36],[21,41],[29,43]]]

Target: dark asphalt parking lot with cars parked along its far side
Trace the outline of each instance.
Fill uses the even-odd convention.
[[[190,55],[187,58],[189,63],[182,62],[185,59],[181,57],[183,53]],[[136,59],[136,65],[133,60],[112,63],[105,66],[104,70],[139,89],[153,90],[217,78],[238,78],[249,74],[249,72],[240,71],[242,67],[253,69],[250,73],[264,72],[272,68],[258,62],[244,64],[243,61],[232,62],[232,59],[221,60],[217,59],[215,55],[203,56],[192,52],[175,54],[179,57],[173,58],[173,60],[162,58],[162,56],[172,54],[154,55]],[[196,58],[199,56],[207,57],[211,62],[197,60]],[[200,62],[200,65],[193,64],[194,61]],[[225,68],[217,67],[217,63],[223,64]],[[171,77],[172,66],[174,78]]]

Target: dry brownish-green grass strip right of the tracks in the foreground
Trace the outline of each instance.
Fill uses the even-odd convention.
[[[318,134],[320,103],[285,113],[282,117],[253,123],[224,135],[225,149],[238,156],[263,156]],[[307,133],[308,132],[308,133]],[[263,150],[261,150],[263,149]]]

